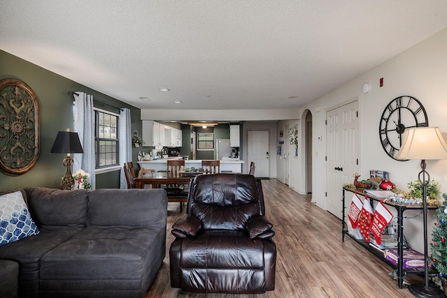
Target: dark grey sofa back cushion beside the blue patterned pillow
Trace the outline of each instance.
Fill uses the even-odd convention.
[[[60,190],[43,187],[24,188],[29,211],[37,225],[85,227],[89,191]]]

